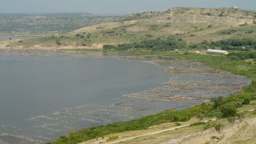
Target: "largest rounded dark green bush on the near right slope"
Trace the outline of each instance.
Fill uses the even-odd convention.
[[[236,115],[237,109],[235,104],[227,103],[220,107],[220,111],[224,117],[232,117]]]

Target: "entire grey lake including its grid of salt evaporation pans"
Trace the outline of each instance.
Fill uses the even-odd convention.
[[[187,109],[251,81],[195,61],[141,60],[0,55],[0,141],[54,141],[81,128]]]

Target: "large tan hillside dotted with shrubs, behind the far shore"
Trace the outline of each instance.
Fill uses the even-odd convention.
[[[114,19],[114,18],[112,18]],[[256,37],[256,11],[234,8],[176,7],[118,17],[66,34],[8,41],[8,47],[99,47],[174,35],[188,43]],[[69,20],[72,21],[72,20]],[[0,42],[1,43],[1,42]],[[2,42],[3,43],[3,42]],[[5,44],[0,44],[5,47]]]

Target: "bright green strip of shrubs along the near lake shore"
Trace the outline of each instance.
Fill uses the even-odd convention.
[[[96,139],[98,137],[102,137],[104,135],[108,135],[111,133],[120,133],[125,131],[137,131],[137,130],[146,130],[148,127],[153,125],[159,125],[162,123],[170,123],[181,120],[189,120],[192,117],[196,117],[197,115],[207,115],[209,113],[217,113],[221,112],[221,117],[227,117],[230,114],[233,114],[234,110],[236,111],[236,104],[233,102],[243,101],[245,98],[250,100],[256,100],[256,80],[245,86],[243,88],[243,93],[232,95],[227,98],[216,98],[212,99],[213,104],[200,104],[195,107],[191,107],[187,110],[179,110],[172,111],[166,110],[164,112],[160,112],[154,115],[147,115],[144,117],[140,117],[136,120],[131,120],[128,122],[117,122],[108,125],[95,126],[91,128],[86,128],[84,130],[79,130],[77,132],[70,132],[69,136],[61,136],[58,140],[54,141],[53,144],[76,144],[82,141],[87,141],[90,139]],[[232,109],[227,109],[226,106],[232,107]],[[219,108],[218,108],[219,107]],[[241,114],[238,114],[241,116]],[[216,115],[211,115],[214,117]],[[211,128],[211,125],[205,125],[206,123],[199,122],[193,123],[190,126],[195,125],[204,125],[203,129]],[[176,125],[179,125],[176,123]],[[216,131],[221,133],[223,129],[223,125],[213,125],[216,128]]]

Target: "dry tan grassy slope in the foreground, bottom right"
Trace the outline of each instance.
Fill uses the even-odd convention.
[[[255,102],[255,101],[253,101]],[[253,105],[253,102],[251,102],[250,105],[245,105],[243,107],[238,108],[239,112],[245,112],[251,109],[255,108],[255,105]],[[246,112],[246,120],[251,120],[252,118],[255,119],[256,117],[256,112]],[[187,122],[179,122],[181,123],[181,125],[187,125],[189,123],[195,123],[195,122],[199,122],[201,120],[199,120],[198,118],[193,118]],[[204,121],[204,120],[203,120]],[[244,120],[245,121],[245,120]],[[231,126],[229,125],[229,123],[227,122],[227,118],[223,118],[223,119],[219,119],[216,121],[210,121],[209,122],[211,125],[213,123],[223,123],[224,125],[226,125],[225,130],[229,131],[229,129],[231,128]],[[246,122],[245,122],[246,123]],[[235,125],[233,125],[233,128],[237,127],[240,123],[236,123]],[[91,143],[99,143],[100,141],[102,141],[103,143],[108,139],[109,136],[119,136],[119,139],[117,140],[122,140],[122,139],[126,139],[129,137],[133,137],[133,136],[139,136],[139,135],[143,135],[146,133],[150,133],[150,132],[154,132],[154,131],[160,131],[160,130],[164,130],[167,128],[172,128],[175,127],[175,123],[165,123],[165,124],[161,124],[161,125],[156,125],[154,127],[151,127],[147,130],[142,130],[142,131],[128,131],[128,132],[123,132],[123,133],[112,133],[109,134],[107,136],[104,136],[104,139],[99,138],[98,140],[93,139],[90,141],[84,141],[80,144],[91,144]],[[141,136],[139,138],[136,139],[131,139],[128,141],[123,141],[123,144],[131,144],[131,143],[147,143],[147,144],[157,144],[157,143],[161,143],[161,142],[166,142],[166,141],[172,141],[173,143],[206,143],[206,141],[211,141],[211,144],[213,143],[214,139],[211,139],[211,136],[219,136],[218,133],[214,130],[214,128],[210,128],[206,131],[203,131],[203,126],[204,125],[196,125],[196,126],[188,126],[185,128],[180,128],[177,129],[175,131],[168,131],[168,132],[163,132],[163,133],[158,133],[158,134],[154,134],[154,135],[149,135],[149,136]],[[250,129],[248,127],[245,127],[246,129]],[[252,132],[255,133],[255,128],[252,127],[252,129],[254,129]],[[224,130],[224,135],[227,134],[231,134],[228,133]],[[255,137],[251,137],[250,134],[248,133],[248,135],[246,134],[243,137],[240,137],[240,139],[237,139],[237,137],[239,134],[241,134],[241,132],[243,133],[247,133],[247,131],[237,131],[237,133],[235,131],[233,131],[234,133],[232,133],[232,136],[229,137],[229,139],[226,139],[225,141],[221,141],[222,143],[227,143],[228,141],[231,143],[238,143],[240,141],[240,144],[247,144],[246,141],[248,138],[250,138],[250,141],[256,141]],[[250,131],[249,131],[250,132]],[[200,141],[198,141],[200,140]],[[216,139],[215,139],[216,140]],[[112,140],[115,141],[115,140]],[[110,141],[111,142],[111,141]]]

